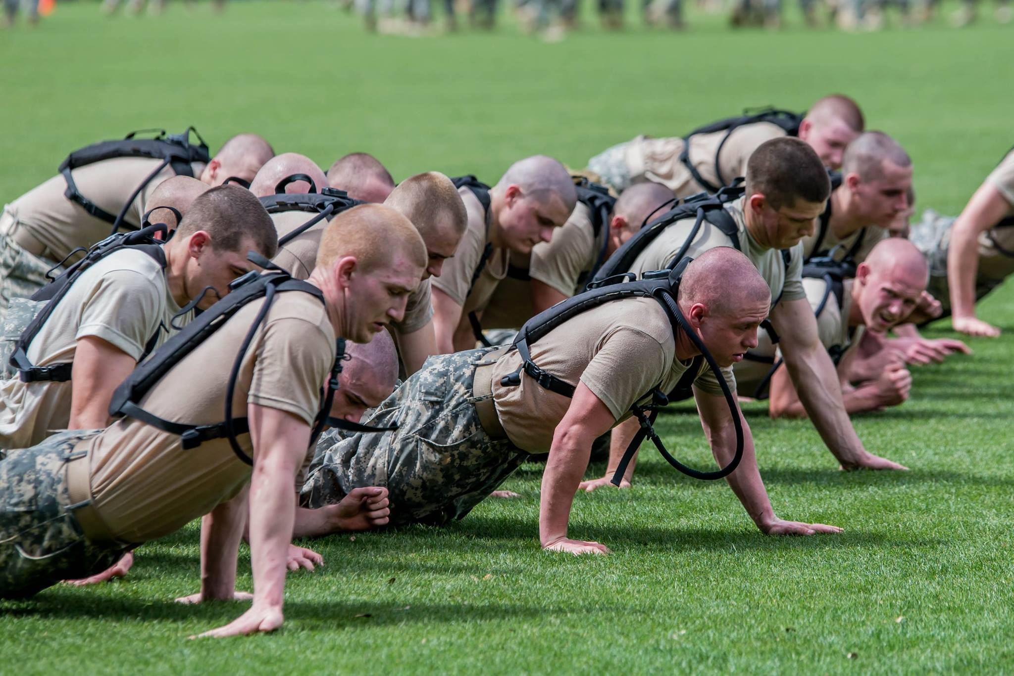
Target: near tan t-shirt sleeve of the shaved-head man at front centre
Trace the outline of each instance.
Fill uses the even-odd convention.
[[[619,420],[659,383],[668,369],[665,348],[655,337],[631,326],[620,326],[605,335],[581,374],[581,382]]]

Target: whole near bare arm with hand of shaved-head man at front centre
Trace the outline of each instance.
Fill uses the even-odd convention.
[[[574,494],[588,466],[591,444],[608,430],[615,419],[595,393],[579,382],[567,414],[553,434],[550,459],[542,472],[538,507],[538,537],[544,549],[573,554],[607,553],[598,542],[571,540],[567,537]]]

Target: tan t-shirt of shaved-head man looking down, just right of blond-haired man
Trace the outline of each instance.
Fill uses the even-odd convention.
[[[489,303],[497,285],[507,276],[510,251],[505,248],[494,248],[473,286],[472,277],[479,268],[483,250],[489,241],[486,214],[482,203],[470,190],[462,187],[458,190],[458,194],[468,212],[468,226],[454,256],[444,262],[440,277],[433,280],[433,287],[460,305],[463,317],[468,312],[483,310]]]

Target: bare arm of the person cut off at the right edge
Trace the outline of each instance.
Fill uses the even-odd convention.
[[[975,276],[979,273],[979,235],[993,227],[1011,209],[992,183],[983,183],[951,226],[947,250],[954,330],[997,337],[1000,329],[975,317]]]

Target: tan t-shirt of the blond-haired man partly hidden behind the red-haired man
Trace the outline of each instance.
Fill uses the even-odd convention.
[[[271,220],[275,222],[275,229],[279,238],[289,234],[306,221],[312,219],[313,214],[304,211],[284,211],[271,215]],[[289,271],[294,279],[305,280],[316,266],[316,253],[320,246],[320,236],[328,226],[328,220],[323,219],[314,223],[305,231],[300,232],[283,246],[279,247],[278,253],[272,259],[276,266]],[[405,306],[405,318],[402,321],[392,323],[400,333],[412,333],[418,331],[426,325],[426,322],[433,316],[433,304],[430,301],[430,281],[423,280],[416,287],[416,290],[409,294],[409,300]]]

